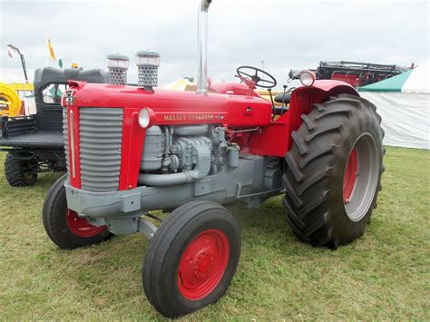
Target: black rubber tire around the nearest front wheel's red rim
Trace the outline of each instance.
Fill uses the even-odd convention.
[[[214,203],[210,202],[210,204],[213,205]],[[237,226],[228,210],[218,205],[217,208],[212,206],[208,210],[199,212],[197,216],[194,214],[194,216],[190,216],[190,219],[185,218],[187,217],[186,212],[177,213],[176,215],[176,217],[183,217],[183,220],[181,218],[178,220],[168,218],[168,220],[171,220],[169,231],[167,229],[161,231],[162,234],[166,234],[164,236],[175,235],[169,241],[164,238],[156,239],[154,237],[151,239],[143,267],[145,292],[151,304],[166,317],[180,317],[189,314],[221,298],[230,286],[231,279],[238,267],[240,256],[239,226]],[[210,294],[199,300],[191,300],[182,296],[179,289],[179,265],[182,255],[191,241],[198,237],[201,232],[208,229],[219,229],[225,234],[229,242],[229,261],[220,282]],[[169,245],[165,244],[167,242],[169,242]],[[161,250],[164,247],[166,250]],[[158,251],[153,253],[152,249],[157,249]],[[150,252],[151,259],[148,258]],[[157,263],[161,263],[161,265],[157,265]],[[145,274],[145,270],[147,270],[147,274]],[[150,280],[153,280],[153,278],[157,281],[156,283],[151,283]],[[150,283],[151,287],[149,286]]]

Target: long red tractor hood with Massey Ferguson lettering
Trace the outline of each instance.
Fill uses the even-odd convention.
[[[192,123],[222,123],[230,127],[264,127],[271,120],[271,103],[256,97],[221,93],[207,96],[193,92],[69,82],[63,106],[151,109],[154,124],[174,125]],[[72,100],[67,99],[67,94]]]

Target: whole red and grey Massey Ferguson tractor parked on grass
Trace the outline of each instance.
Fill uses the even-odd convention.
[[[69,82],[68,172],[44,201],[44,228],[62,249],[112,234],[151,239],[143,288],[166,317],[214,303],[230,285],[240,230],[221,204],[257,207],[282,194],[298,238],[336,249],[363,234],[384,170],[381,118],[347,83],[304,72],[282,107],[255,91],[276,85],[258,68],[208,89],[209,6],[201,1],[197,93],[154,88],[147,67],[137,87]]]

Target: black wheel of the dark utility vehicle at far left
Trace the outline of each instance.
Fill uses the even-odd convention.
[[[11,152],[5,159],[5,178],[12,187],[33,186],[37,180],[37,160],[20,160]]]

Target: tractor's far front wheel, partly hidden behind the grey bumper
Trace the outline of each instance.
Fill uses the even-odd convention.
[[[106,226],[96,227],[67,208],[64,181],[67,174],[54,182],[44,199],[42,220],[49,238],[62,249],[90,246],[112,237]]]

